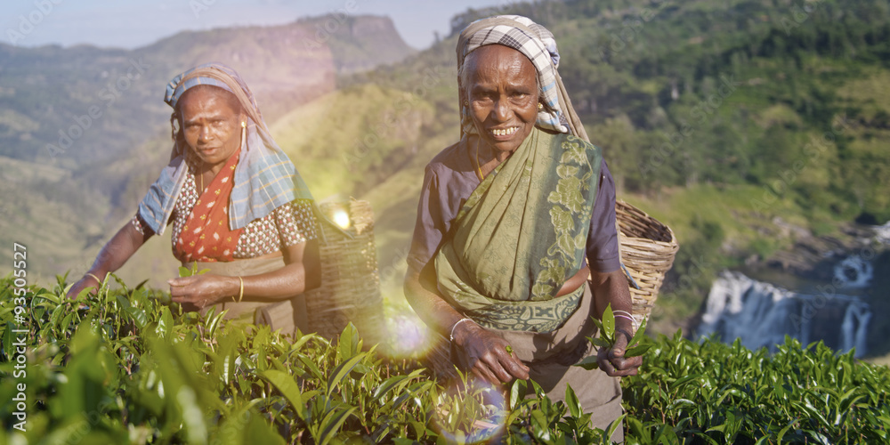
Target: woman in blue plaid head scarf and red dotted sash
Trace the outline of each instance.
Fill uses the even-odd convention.
[[[221,64],[190,69],[164,100],[174,109],[170,163],[69,296],[97,287],[170,224],[174,256],[210,269],[168,281],[187,310],[215,304],[229,319],[259,319],[257,310],[318,287],[312,195],[238,73]]]

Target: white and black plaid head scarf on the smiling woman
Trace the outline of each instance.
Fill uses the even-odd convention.
[[[538,85],[544,93],[541,100],[547,105],[538,111],[538,127],[559,133],[571,132],[587,140],[584,126],[572,109],[562,78],[556,71],[559,67],[559,51],[556,49],[554,35],[547,28],[521,15],[498,15],[473,21],[461,31],[457,40],[458,72],[464,66],[467,54],[486,44],[503,44],[513,48],[528,57],[535,66],[538,71]],[[460,85],[460,82],[458,76],[461,132],[475,134],[477,132],[473,119],[465,106],[465,85]]]

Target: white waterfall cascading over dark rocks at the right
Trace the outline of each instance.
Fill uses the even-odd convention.
[[[848,287],[859,286],[866,272],[861,264],[838,265],[856,268],[859,275],[847,278]],[[870,266],[870,264],[869,264]],[[870,269],[868,270],[870,274]],[[862,286],[867,286],[868,279]],[[871,310],[856,296],[821,291],[818,294],[792,292],[772,284],[750,279],[740,272],[723,271],[711,286],[698,334],[716,334],[724,342],[740,339],[748,349],[785,342],[785,336],[803,344],[822,340],[837,351],[856,348],[856,356],[865,353]]]

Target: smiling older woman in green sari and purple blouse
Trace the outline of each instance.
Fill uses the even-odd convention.
[[[604,429],[621,413],[613,376],[635,374],[642,359],[623,357],[633,327],[614,184],[558,61],[553,35],[525,17],[461,33],[461,139],[426,166],[405,295],[451,339],[458,368],[492,384],[531,377],[553,400],[570,384]],[[585,337],[607,304],[627,315],[614,347],[597,352]],[[571,366],[592,354],[603,370]]]

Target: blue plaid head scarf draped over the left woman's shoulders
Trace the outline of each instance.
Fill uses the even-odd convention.
[[[214,85],[234,94],[247,114],[247,129],[241,140],[241,158],[235,167],[235,184],[230,197],[229,226],[232,230],[243,228],[294,199],[312,199],[290,158],[272,140],[254,94],[234,69],[221,63],[207,63],[190,69],[170,81],[164,101],[175,109],[182,93],[195,85]],[[190,150],[186,144],[174,143],[170,163],[139,203],[139,215],[158,235],[164,232],[188,174],[186,150]]]

